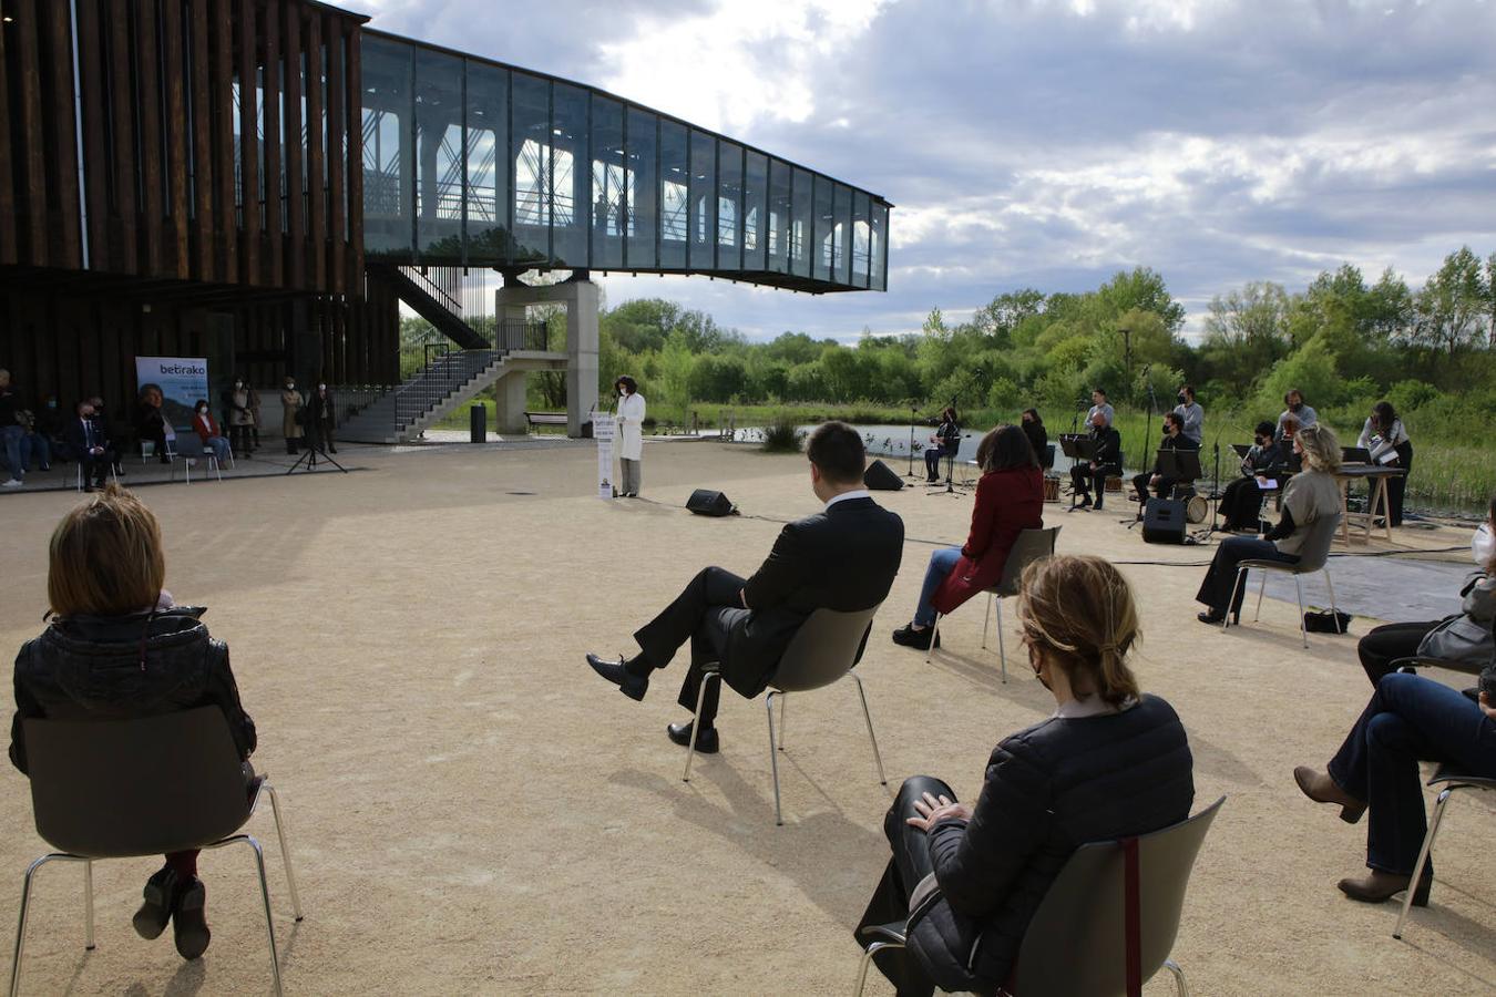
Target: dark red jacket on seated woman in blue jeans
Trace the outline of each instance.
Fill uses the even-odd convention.
[[[971,534],[960,561],[935,590],[938,613],[951,613],[962,602],[1002,580],[1008,552],[1025,529],[1044,526],[1044,472],[1038,468],[987,471],[977,481],[977,504],[971,510]]]

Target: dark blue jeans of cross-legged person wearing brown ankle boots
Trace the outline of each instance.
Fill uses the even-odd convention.
[[[1367,868],[1412,874],[1427,830],[1420,761],[1496,779],[1496,722],[1442,683],[1393,673],[1330,761],[1334,785],[1367,804]]]

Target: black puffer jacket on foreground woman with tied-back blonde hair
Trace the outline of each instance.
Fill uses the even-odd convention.
[[[945,990],[1002,985],[1071,854],[1188,818],[1191,770],[1179,716],[1152,695],[1122,713],[1050,717],[998,744],[971,822],[929,833],[941,900],[914,919],[911,942],[932,979]]]

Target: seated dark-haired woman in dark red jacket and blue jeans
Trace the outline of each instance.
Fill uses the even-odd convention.
[[[928,650],[935,613],[951,613],[995,586],[1019,531],[1044,526],[1044,472],[1022,429],[998,426],[989,432],[977,447],[977,465],[983,475],[966,546],[931,555],[914,622],[893,631],[895,644]]]

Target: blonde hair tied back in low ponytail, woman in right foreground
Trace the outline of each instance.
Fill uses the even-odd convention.
[[[1073,689],[1089,685],[1112,706],[1140,695],[1126,664],[1143,635],[1137,604],[1110,562],[1067,555],[1031,564],[1019,586],[1019,620],[1029,647],[1064,670]]]

